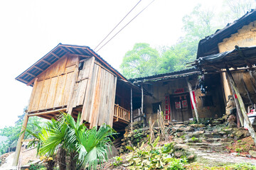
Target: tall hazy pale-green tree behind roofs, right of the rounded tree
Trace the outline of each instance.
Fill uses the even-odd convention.
[[[213,16],[212,11],[202,10],[201,5],[198,5],[189,15],[183,17],[183,30],[186,35],[161,55],[159,73],[185,69],[186,63],[196,60],[199,40],[214,33]]]

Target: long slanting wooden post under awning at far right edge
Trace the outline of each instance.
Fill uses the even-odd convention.
[[[243,101],[242,101],[242,97],[241,97],[241,95],[240,95],[240,93],[239,93],[239,91],[238,91],[238,88],[237,88],[237,86],[236,86],[236,84],[235,84],[235,81],[234,81],[234,79],[233,79],[233,76],[232,76],[232,74],[230,73],[230,70],[228,69],[228,66],[226,66],[226,71],[227,71],[227,73],[228,73],[228,77],[229,77],[229,79],[230,79],[231,86],[233,86],[233,89],[234,89],[234,91],[235,91],[235,94],[238,96],[238,102],[239,102],[239,104],[240,104],[240,108],[241,108],[241,111],[242,111],[242,115],[243,115],[243,117],[244,117],[244,119],[245,119],[245,122],[246,122],[247,125],[248,125],[248,131],[250,132],[250,135],[251,135],[253,141],[254,141],[255,144],[256,144],[255,130],[252,128],[252,124],[250,123],[250,120],[249,120],[249,118],[248,118],[247,112],[246,112],[246,110],[245,110],[245,103],[243,103]]]

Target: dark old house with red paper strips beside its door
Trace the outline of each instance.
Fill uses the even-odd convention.
[[[144,95],[144,111],[146,118],[157,119],[159,106],[164,112],[164,120],[183,122],[196,118],[192,99],[196,104],[198,118],[220,117],[225,112],[220,77],[205,77],[208,86],[207,95],[198,87],[198,69],[186,69],[178,72],[159,74],[151,77],[140,77],[131,81],[151,95]],[[216,81],[218,80],[218,81]],[[191,91],[188,84],[191,86]],[[193,95],[193,98],[191,96]]]

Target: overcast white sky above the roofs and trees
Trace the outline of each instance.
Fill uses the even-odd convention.
[[[139,0],[0,1],[0,128],[14,125],[28,105],[31,87],[15,81],[59,42],[94,49]],[[119,30],[151,0],[142,0]],[[222,0],[155,0],[97,52],[119,69],[136,42],[173,45],[183,35],[182,17],[197,4],[216,10]]]

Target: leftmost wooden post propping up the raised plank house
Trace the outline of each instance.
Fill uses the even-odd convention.
[[[23,125],[21,127],[22,134],[21,134],[20,137],[18,137],[18,142],[17,142],[16,151],[15,151],[15,155],[14,155],[13,166],[18,165],[18,157],[21,153],[22,140],[24,138],[25,130],[26,130],[27,125],[28,125],[28,113],[25,113],[24,120],[23,120]]]

